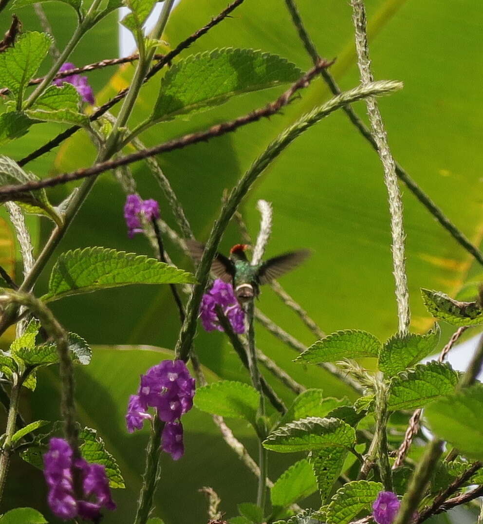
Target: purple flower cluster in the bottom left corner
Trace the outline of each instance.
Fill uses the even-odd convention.
[[[106,471],[101,464],[89,464],[73,459],[72,449],[64,439],[50,439],[49,451],[43,455],[44,470],[49,487],[48,503],[53,514],[61,519],[97,520],[101,507],[116,509],[111,498]],[[72,484],[72,468],[80,471],[84,498],[76,500]]]

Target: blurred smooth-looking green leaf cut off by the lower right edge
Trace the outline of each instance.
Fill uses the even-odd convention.
[[[424,411],[434,434],[463,455],[483,460],[483,386],[476,384],[431,403]]]

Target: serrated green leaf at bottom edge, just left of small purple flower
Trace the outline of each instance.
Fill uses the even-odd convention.
[[[347,524],[363,509],[370,510],[379,492],[380,482],[354,481],[337,489],[328,505],[327,524]]]

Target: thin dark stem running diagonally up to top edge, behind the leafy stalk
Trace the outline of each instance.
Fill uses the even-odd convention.
[[[153,65],[153,67],[149,70],[148,74],[146,75],[144,82],[147,82],[151,77],[153,77],[153,75],[155,75],[159,70],[161,70],[164,67],[164,65],[169,64],[174,57],[178,56],[178,54],[181,53],[181,51],[184,51],[185,49],[190,47],[193,42],[195,42],[197,39],[203,36],[212,27],[219,24],[224,18],[226,18],[234,9],[236,9],[243,2],[244,0],[235,0],[235,2],[231,3],[219,15],[215,16],[215,18],[212,18],[212,20],[208,24],[206,24],[201,29],[198,29],[191,36],[183,40],[175,49],[166,54],[162,60],[160,60],[157,64]],[[106,102],[101,107],[98,107],[97,110],[89,117],[89,120],[93,122],[94,120],[97,120],[97,118],[101,117],[106,111],[111,109],[113,105],[117,104],[120,100],[122,100],[126,96],[127,91],[128,88],[119,91],[119,93],[117,93],[117,95],[114,96],[111,100]],[[80,128],[80,126],[69,127],[64,132],[57,135],[55,138],[52,138],[52,140],[49,140],[47,144],[43,145],[39,149],[36,149],[35,151],[31,152],[30,155],[21,159],[18,162],[18,165],[25,166],[27,162],[35,160],[36,158],[42,155],[45,155],[54,147],[59,146],[65,139],[71,137]]]

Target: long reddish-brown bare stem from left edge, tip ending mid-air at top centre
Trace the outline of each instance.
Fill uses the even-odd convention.
[[[80,180],[82,178],[92,177],[104,171],[115,169],[120,166],[125,166],[129,163],[136,162],[147,157],[152,157],[163,152],[173,151],[175,149],[181,149],[192,144],[204,142],[210,138],[233,132],[238,129],[238,127],[250,124],[251,122],[256,122],[261,118],[275,115],[283,106],[287,105],[291,101],[291,98],[295,92],[308,86],[310,80],[317,73],[319,73],[322,68],[328,67],[331,65],[331,63],[332,62],[321,61],[317,67],[312,68],[308,73],[304,74],[303,77],[295,82],[290,89],[279,96],[275,102],[270,102],[265,107],[256,109],[247,115],[240,116],[230,122],[216,124],[199,133],[189,133],[188,135],[169,140],[158,146],[136,151],[124,157],[119,157],[114,160],[107,160],[106,162],[100,162],[90,168],[78,169],[70,173],[63,173],[57,177],[33,180],[25,184],[4,185],[4,187],[0,188],[0,202],[18,198],[18,195],[24,193],[25,191],[53,187],[54,185],[63,184],[72,180]]]

